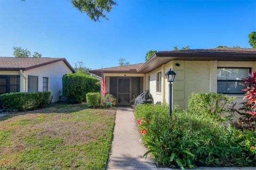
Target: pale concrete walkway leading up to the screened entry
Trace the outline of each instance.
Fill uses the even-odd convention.
[[[140,143],[140,133],[131,108],[118,108],[114,138],[108,160],[109,170],[171,170],[157,168],[153,160],[143,155],[147,148]],[[256,167],[199,167],[196,170],[253,170]]]

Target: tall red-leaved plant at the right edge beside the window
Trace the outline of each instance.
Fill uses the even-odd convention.
[[[244,83],[242,84],[245,89],[243,106],[235,111],[242,117],[239,117],[237,125],[242,129],[249,129],[256,131],[256,72],[249,72],[249,76],[242,79]]]

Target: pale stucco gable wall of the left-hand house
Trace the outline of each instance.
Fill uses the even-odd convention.
[[[59,100],[58,91],[62,90],[62,76],[72,71],[63,62],[59,61],[52,64],[47,64],[35,69],[23,71],[25,78],[20,75],[21,91],[27,91],[28,88],[28,75],[38,76],[38,91],[43,91],[43,77],[49,78],[48,90],[53,96],[52,102]],[[26,84],[26,85],[25,85]]]

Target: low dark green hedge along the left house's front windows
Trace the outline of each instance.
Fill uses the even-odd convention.
[[[15,92],[0,96],[5,111],[26,111],[49,104],[51,92]]]

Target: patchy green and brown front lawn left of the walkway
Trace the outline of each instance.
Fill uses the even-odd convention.
[[[0,169],[106,169],[115,113],[56,104],[0,117]]]

